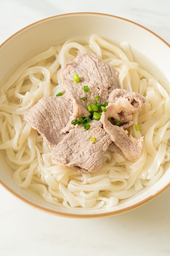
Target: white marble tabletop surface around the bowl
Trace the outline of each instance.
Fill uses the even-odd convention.
[[[37,20],[78,11],[133,20],[170,43],[169,0],[0,0],[0,43]],[[72,219],[34,209],[0,186],[0,255],[169,256],[170,188],[118,216]]]

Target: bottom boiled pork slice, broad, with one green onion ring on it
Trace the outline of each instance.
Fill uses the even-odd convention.
[[[96,172],[102,166],[102,155],[111,143],[100,121],[90,121],[91,127],[85,130],[83,126],[75,128],[63,137],[50,153],[54,164],[60,164],[76,169],[78,172]],[[95,138],[95,142],[91,141]]]

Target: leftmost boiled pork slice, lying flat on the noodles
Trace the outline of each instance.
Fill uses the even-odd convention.
[[[73,112],[73,103],[67,94],[44,97],[23,113],[24,120],[36,129],[50,148],[56,146],[65,134],[61,133]]]

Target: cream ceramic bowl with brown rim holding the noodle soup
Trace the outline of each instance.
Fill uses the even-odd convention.
[[[29,58],[51,45],[57,45],[74,36],[98,34],[110,40],[129,42],[137,61],[145,66],[159,81],[170,86],[170,46],[152,31],[116,16],[100,13],[70,13],[35,22],[18,31],[0,46],[0,86]],[[141,54],[149,61],[141,58]],[[154,65],[150,65],[150,62]],[[2,163],[3,157],[0,158]],[[12,173],[0,169],[0,183],[13,195],[28,204],[61,216],[99,217],[122,213],[138,207],[164,191],[170,185],[170,163],[164,174],[153,186],[147,187],[123,204],[111,209],[89,210],[63,209],[38,200],[14,184]]]

